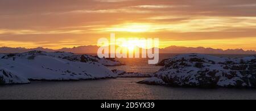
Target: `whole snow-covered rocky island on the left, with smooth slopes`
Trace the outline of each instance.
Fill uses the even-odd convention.
[[[65,52],[31,51],[0,54],[0,84],[30,83],[30,80],[62,81],[116,78],[106,66],[120,62]],[[106,66],[104,66],[106,65]]]

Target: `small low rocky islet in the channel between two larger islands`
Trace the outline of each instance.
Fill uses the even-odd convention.
[[[142,74],[139,72],[126,72],[121,70],[112,70],[119,78],[146,78],[151,77],[150,74]]]

